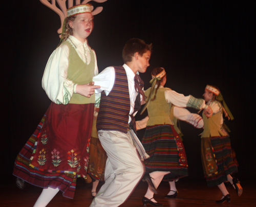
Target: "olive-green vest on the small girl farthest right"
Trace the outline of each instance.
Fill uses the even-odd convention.
[[[201,137],[224,136],[225,134],[221,131],[221,117],[221,111],[212,115],[209,119],[203,113],[204,131]]]

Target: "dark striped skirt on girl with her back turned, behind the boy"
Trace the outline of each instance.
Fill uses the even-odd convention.
[[[172,181],[188,175],[183,143],[173,125],[147,126],[142,145],[150,158],[145,159],[146,172],[170,171],[163,180]]]

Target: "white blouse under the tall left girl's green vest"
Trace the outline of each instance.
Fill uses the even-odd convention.
[[[98,66],[96,54],[93,50],[89,50],[87,41],[84,43],[76,39],[74,36],[69,36],[66,41],[69,41],[75,48],[77,54],[85,64],[90,64],[91,55],[95,56],[94,76],[98,74]],[[62,44],[56,48],[51,54],[42,77],[42,88],[46,91],[47,96],[51,101],[57,104],[68,104],[77,84],[67,79],[69,66],[69,48]],[[68,94],[68,102],[63,99]]]

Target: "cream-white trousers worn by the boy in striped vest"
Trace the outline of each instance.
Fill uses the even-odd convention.
[[[90,207],[116,207],[130,196],[144,174],[130,132],[98,131],[100,143],[108,159],[105,167],[105,183]]]

